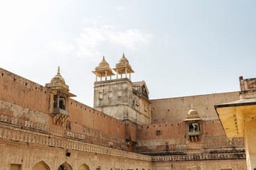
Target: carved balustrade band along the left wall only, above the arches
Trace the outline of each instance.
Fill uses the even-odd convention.
[[[74,134],[72,132],[68,132],[67,135],[69,137],[74,137]],[[95,145],[84,141],[73,140],[68,137],[58,137],[55,135],[33,132],[31,130],[15,128],[11,125],[4,125],[1,123],[0,140],[23,142],[26,143],[27,145],[43,145],[46,147],[56,147],[61,149],[77,150],[81,152],[105,154],[114,157],[123,157],[126,159],[139,159],[142,161],[151,161],[151,157],[144,154],[137,154],[134,152],[127,152],[121,149],[114,149],[111,147]]]

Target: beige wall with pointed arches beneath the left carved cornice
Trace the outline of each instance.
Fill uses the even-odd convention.
[[[110,157],[107,154],[80,152],[56,147],[40,147],[35,145],[17,144],[1,141],[0,158],[1,170],[9,170],[11,164],[21,164],[22,170],[31,170],[39,162],[44,162],[49,169],[58,169],[58,166],[67,162],[72,169],[78,169],[86,164],[89,169],[152,169],[151,162],[124,157]]]

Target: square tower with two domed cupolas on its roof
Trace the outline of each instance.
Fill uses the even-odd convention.
[[[105,62],[105,59],[102,62]],[[94,108],[124,122],[151,123],[149,91],[144,81],[134,83],[131,81],[131,73],[134,71],[124,55],[114,68],[114,71],[117,72],[117,79],[111,78],[113,73],[109,64],[105,64],[108,67],[101,68],[102,62],[93,72],[96,77],[100,77],[100,81],[97,81],[96,78],[94,86]],[[107,74],[100,74],[97,70],[107,72]],[[121,78],[118,78],[119,74]],[[124,74],[124,78],[122,74]],[[129,78],[127,78],[127,74],[129,74]],[[105,80],[102,81],[102,77],[105,77]]]

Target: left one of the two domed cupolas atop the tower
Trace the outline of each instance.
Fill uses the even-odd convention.
[[[111,77],[114,76],[114,73],[110,68],[110,64],[106,62],[104,56],[98,67],[95,67],[95,71],[93,71],[93,73],[96,75],[96,81],[97,77],[100,77],[100,81],[102,81],[102,77],[105,77],[105,80],[107,80],[107,77],[110,77],[111,79]]]

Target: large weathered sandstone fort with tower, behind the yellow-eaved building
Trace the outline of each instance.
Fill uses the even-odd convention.
[[[0,69],[1,170],[247,169],[243,138],[215,111],[240,91],[151,100],[132,73],[124,55],[114,69],[103,57],[91,108],[60,68],[46,86]]]

